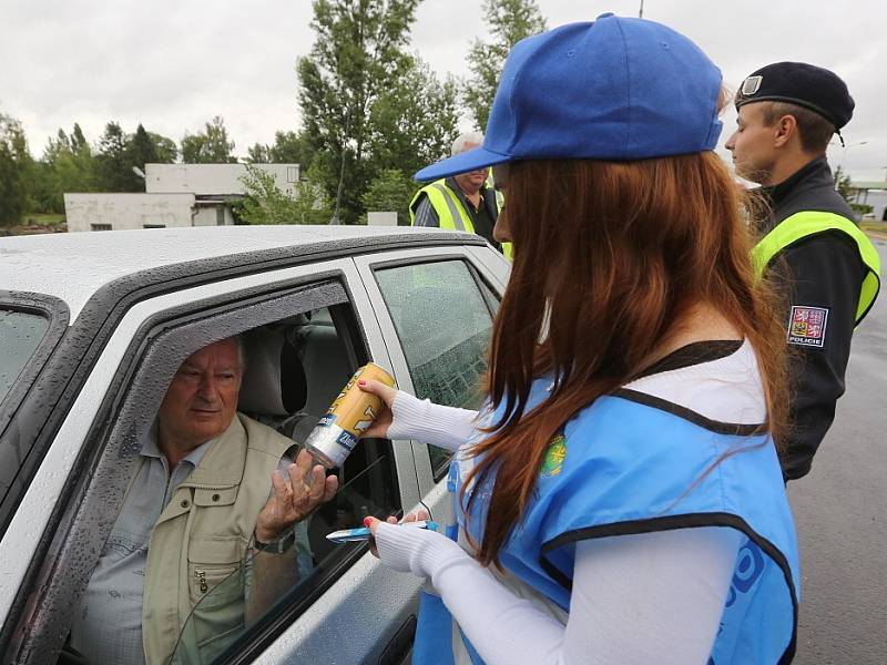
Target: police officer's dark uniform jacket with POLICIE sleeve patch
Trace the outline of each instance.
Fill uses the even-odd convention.
[[[854,218],[850,207],[835,192],[835,180],[825,156],[762,192],[773,206],[764,233],[802,211]],[[792,245],[773,260],[771,269],[776,269],[777,280],[783,280],[786,328],[793,351],[792,427],[787,441],[781,442],[787,448],[783,473],[793,480],[809,472],[813,456],[835,419],[835,403],[844,393],[844,372],[866,269],[856,243],[838,231]],[[810,328],[814,334],[807,339],[793,338],[793,323],[807,320],[818,326]]]

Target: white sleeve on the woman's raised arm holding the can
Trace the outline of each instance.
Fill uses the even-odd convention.
[[[398,390],[391,416],[389,439],[415,439],[456,452],[475,431],[478,412],[436,405]]]

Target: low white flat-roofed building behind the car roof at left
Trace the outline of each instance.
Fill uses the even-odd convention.
[[[255,164],[293,194],[298,164]],[[146,164],[144,194],[65,194],[68,231],[228,226],[246,164]]]

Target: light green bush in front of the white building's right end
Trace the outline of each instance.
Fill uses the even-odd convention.
[[[329,203],[313,176],[309,172],[290,195],[277,186],[274,175],[248,164],[241,178],[246,196],[236,207],[237,217],[246,224],[326,224]]]

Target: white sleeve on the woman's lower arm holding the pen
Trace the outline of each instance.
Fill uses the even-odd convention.
[[[705,665],[742,534],[679,529],[577,543],[564,626],[446,536],[379,524],[381,561],[430,579],[488,665]]]

